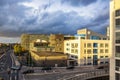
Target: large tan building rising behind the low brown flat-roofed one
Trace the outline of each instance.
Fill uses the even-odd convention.
[[[22,34],[21,35],[21,46],[30,50],[30,43],[34,42],[37,39],[45,40],[48,42],[48,45],[53,47],[53,52],[64,52],[64,35],[63,34]]]

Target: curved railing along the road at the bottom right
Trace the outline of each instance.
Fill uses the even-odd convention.
[[[86,80],[86,79],[90,79],[90,78],[94,78],[94,77],[102,77],[102,76],[108,76],[109,75],[109,71],[106,70],[96,70],[93,72],[87,72],[87,73],[81,73],[81,74],[77,74],[73,77],[69,77],[63,80]]]

